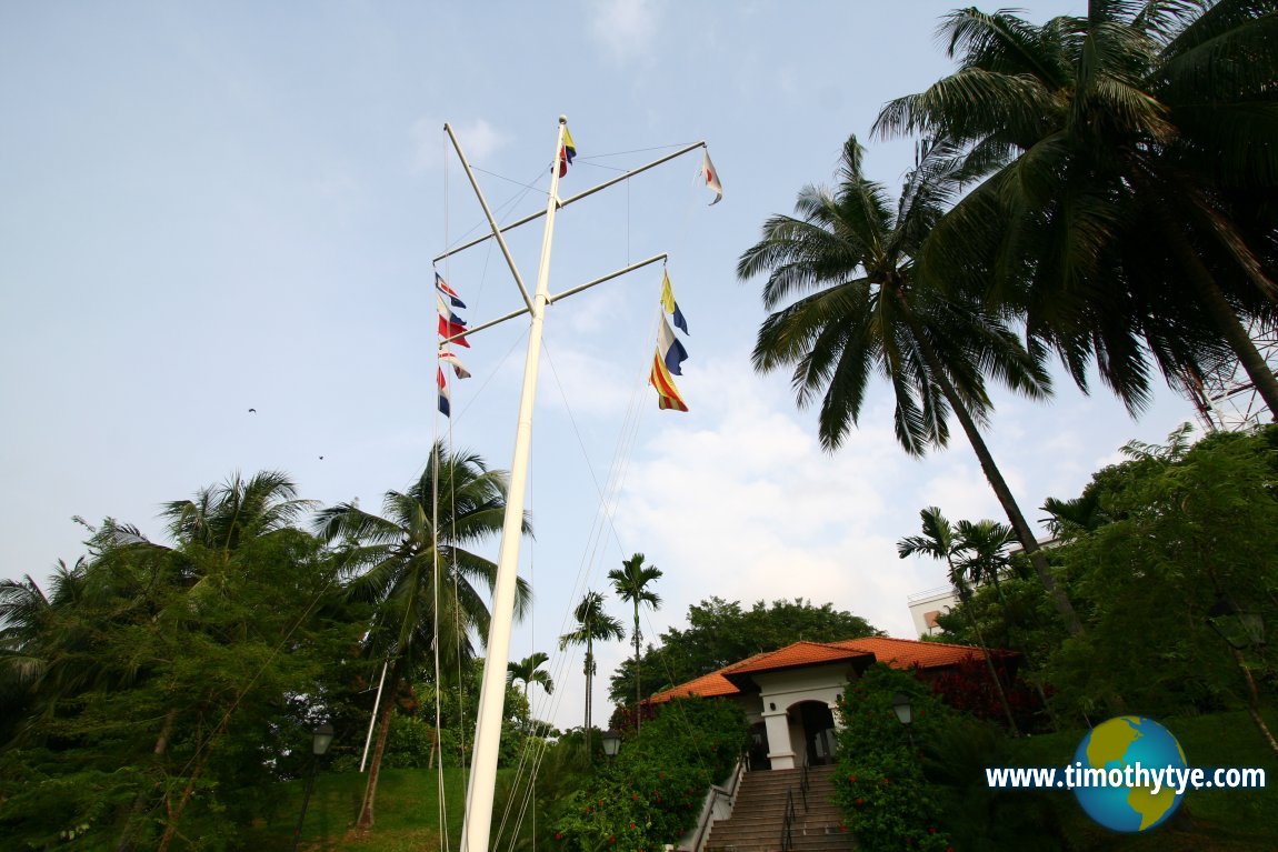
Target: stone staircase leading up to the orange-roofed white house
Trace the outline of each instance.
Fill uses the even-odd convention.
[[[833,766],[808,770],[808,810],[799,795],[801,769],[746,773],[737,789],[732,816],[718,820],[705,842],[707,852],[777,852],[785,824],[786,789],[794,788],[795,820],[790,837],[795,852],[847,852],[852,835],[840,828],[835,806]]]

